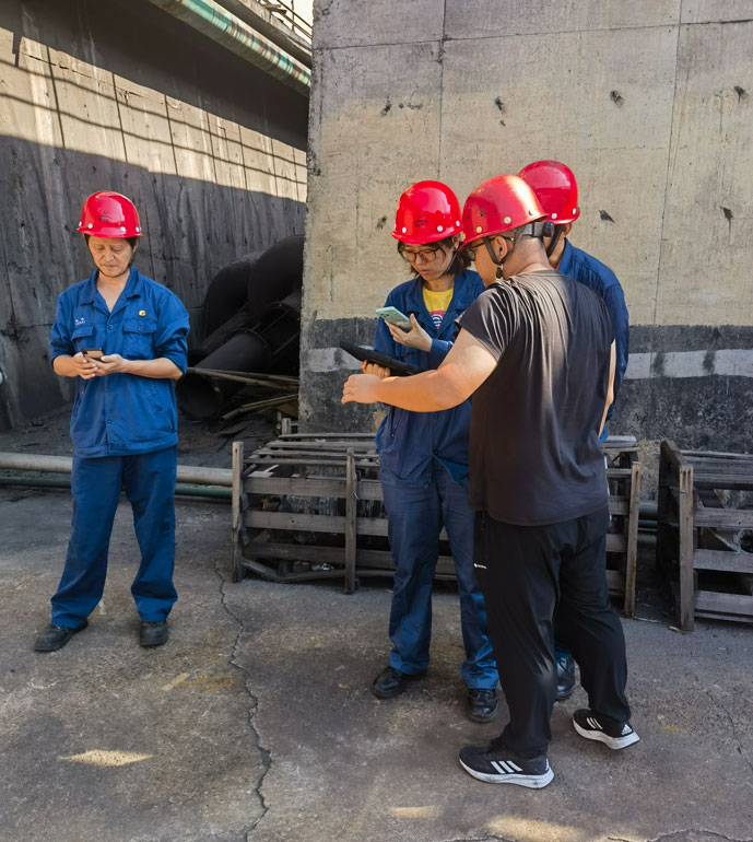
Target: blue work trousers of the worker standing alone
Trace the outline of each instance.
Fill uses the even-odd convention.
[[[177,447],[133,456],[73,457],[68,556],[51,599],[56,625],[80,625],[102,598],[120,490],[133,510],[141,564],[131,594],[142,620],[164,620],[178,595],[175,563]]]

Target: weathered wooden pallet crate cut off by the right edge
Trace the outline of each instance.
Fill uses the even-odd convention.
[[[659,457],[657,566],[675,595],[680,628],[695,617],[753,623],[753,455],[681,451]],[[750,534],[750,533],[749,533]]]

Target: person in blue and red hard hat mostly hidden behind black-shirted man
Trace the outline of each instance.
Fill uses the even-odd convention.
[[[554,236],[545,237],[546,256],[552,269],[575,278],[603,299],[614,334],[616,353],[614,369],[614,400],[627,369],[630,354],[630,315],[625,293],[617,277],[609,266],[597,260],[581,248],[576,248],[567,235],[580,215],[578,185],[573,171],[560,161],[534,161],[518,175],[536,194],[548,219],[554,223]],[[609,408],[607,421],[612,418],[614,402]],[[600,442],[607,438],[607,424]],[[557,662],[557,701],[569,699],[575,692],[575,662],[573,655],[555,639],[554,655]]]

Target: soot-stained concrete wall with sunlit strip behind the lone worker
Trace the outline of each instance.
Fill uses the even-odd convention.
[[[146,0],[0,5],[0,428],[63,404],[55,300],[86,277],[84,198],[139,208],[137,266],[186,303],[302,233],[308,102]]]

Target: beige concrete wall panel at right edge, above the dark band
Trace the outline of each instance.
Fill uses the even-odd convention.
[[[682,28],[657,323],[750,325],[753,22]]]

